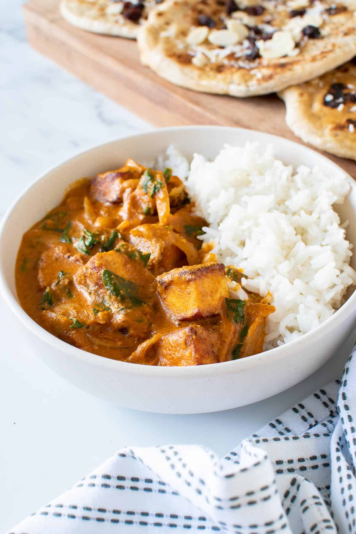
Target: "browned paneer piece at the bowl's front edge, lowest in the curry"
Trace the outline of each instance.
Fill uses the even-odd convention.
[[[185,366],[219,362],[219,334],[201,325],[189,325],[167,334],[156,334],[139,347],[128,361],[146,365]]]

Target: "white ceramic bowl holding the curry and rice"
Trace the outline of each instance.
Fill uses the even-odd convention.
[[[195,367],[154,367],[102,358],[60,341],[20,307],[14,265],[22,234],[61,201],[66,187],[82,176],[120,167],[127,156],[150,161],[173,143],[186,155],[215,158],[224,143],[273,143],[276,158],[298,166],[318,165],[325,174],[344,172],[327,158],[297,143],[252,130],[213,126],[166,128],[92,148],[39,177],[14,202],[0,229],[0,289],[28,332],[35,352],[56,373],[93,395],[118,405],[161,413],[226,410],[270,397],[324,364],[356,326],[356,292],[325,323],[276,349],[232,362]],[[356,187],[339,210],[349,219],[347,238],[356,244]],[[356,257],[352,258],[356,267]]]

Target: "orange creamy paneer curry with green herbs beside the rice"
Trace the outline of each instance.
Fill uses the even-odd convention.
[[[242,290],[242,271],[218,263],[202,242],[207,226],[170,168],[128,159],[75,183],[23,235],[21,306],[59,339],[124,362],[186,366],[258,354],[275,311],[270,294]]]

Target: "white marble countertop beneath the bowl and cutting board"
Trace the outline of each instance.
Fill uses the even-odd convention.
[[[77,152],[149,125],[42,58],[26,43],[21,0],[2,0],[0,215],[38,174]],[[220,456],[341,374],[356,332],[317,373],[271,399],[203,415],[159,415],[105,403],[56,376],[0,300],[0,531],[125,445],[202,443]],[[16,340],[15,345],[13,340]]]

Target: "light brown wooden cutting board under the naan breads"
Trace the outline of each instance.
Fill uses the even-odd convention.
[[[177,87],[140,64],[135,41],[71,26],[60,15],[59,0],[30,0],[24,12],[36,50],[154,126],[239,126],[302,143],[287,127],[284,104],[275,95],[234,98]],[[323,154],[356,178],[355,161]]]

